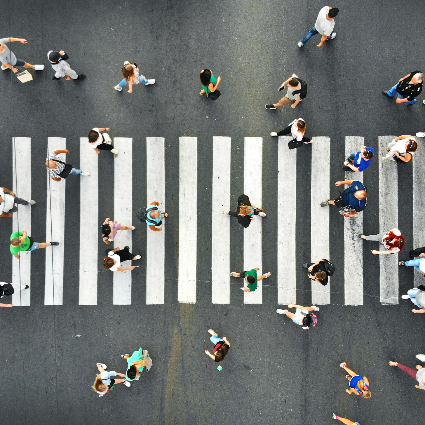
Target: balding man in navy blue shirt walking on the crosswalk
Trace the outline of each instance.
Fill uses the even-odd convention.
[[[359,212],[363,211],[366,208],[368,193],[363,183],[357,180],[344,180],[337,181],[335,186],[342,186],[343,184],[348,184],[346,190],[340,193],[336,199],[331,201],[324,201],[320,204],[320,207],[326,207],[326,205],[335,205],[335,207],[340,208],[341,215],[344,217],[350,217],[351,215],[356,215]]]

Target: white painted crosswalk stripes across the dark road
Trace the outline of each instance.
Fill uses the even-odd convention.
[[[379,136],[375,162],[379,167],[379,229],[388,230],[398,225],[398,193],[397,193],[397,163],[381,161],[380,153],[386,151],[386,146],[394,136]],[[262,250],[262,218],[257,216],[244,229],[243,237],[243,268],[259,267],[259,274],[271,271],[274,280],[270,283],[277,286],[277,303],[288,304],[297,302],[296,270],[296,227],[297,222],[295,200],[297,191],[310,192],[311,198],[311,261],[329,258],[329,208],[320,208],[319,204],[331,196],[330,187],[330,147],[329,137],[314,137],[311,162],[311,187],[297,187],[297,152],[288,150],[287,142],[291,138],[280,136],[278,143],[278,175],[277,175],[277,270],[263,270]],[[16,137],[12,140],[13,158],[20,158],[20,163],[28,167],[15,167],[13,164],[13,190],[18,196],[31,198],[31,139]],[[133,210],[133,139],[116,137],[114,146],[119,150],[119,156],[114,159],[113,190],[103,193],[113,199],[113,220],[124,225],[135,221],[136,211]],[[198,154],[196,137],[180,137],[179,144],[179,217],[178,217],[178,278],[177,294],[179,303],[197,302],[197,238],[198,238]],[[347,136],[345,152],[349,155],[364,144],[363,137]],[[48,150],[66,149],[66,139],[61,137],[48,138]],[[140,149],[140,145],[138,146]],[[143,146],[146,152],[146,204],[159,201],[161,211],[166,210],[165,156],[166,146],[162,137],[147,137]],[[62,155],[63,156],[63,155]],[[204,241],[211,246],[211,302],[214,304],[230,303],[230,221],[223,210],[231,210],[231,138],[227,136],[212,137],[212,199],[202,213],[211,211],[211,241]],[[420,184],[425,177],[424,156],[419,148],[413,159],[413,193],[414,211],[423,211],[425,195]],[[80,138],[80,164],[83,170],[88,170],[91,176],[80,178],[80,220],[79,220],[79,305],[96,305],[98,303],[99,272],[102,271],[102,257],[106,246],[99,244],[100,224],[99,210],[99,165],[98,155],[88,144],[86,137]],[[65,158],[64,158],[65,159]],[[244,138],[244,193],[252,201],[261,206],[263,195],[263,138]],[[346,173],[346,179],[363,180],[363,173]],[[63,304],[64,284],[64,252],[65,244],[65,189],[71,184],[72,178],[56,182],[46,176],[46,240],[57,240],[61,244],[54,249],[45,249],[45,292],[44,304],[61,306]],[[68,181],[68,183],[67,183]],[[340,188],[343,190],[343,188]],[[333,193],[333,192],[332,192]],[[205,200],[203,199],[203,202]],[[20,207],[18,215],[13,216],[13,228],[25,229],[31,235],[31,208]],[[164,289],[167,281],[165,276],[165,252],[167,220],[163,221],[162,232],[147,231],[146,237],[146,304],[164,304]],[[346,305],[362,305],[363,294],[363,241],[357,235],[363,232],[363,214],[344,219],[344,296]],[[420,216],[414,214],[414,244],[425,244],[425,225]],[[320,241],[320,243],[318,243]],[[118,232],[114,246],[130,246],[132,234],[130,231]],[[367,247],[369,249],[369,247]],[[137,254],[137,252],[135,253]],[[37,255],[37,254],[35,254]],[[20,260],[12,259],[12,274],[15,282],[31,284],[31,253],[21,255]],[[397,304],[399,298],[398,255],[380,255],[380,302]],[[135,263],[136,264],[136,263]],[[123,266],[130,265],[124,264]],[[242,264],[241,264],[242,268]],[[138,271],[141,269],[137,269]],[[238,270],[239,271],[239,270]],[[144,273],[142,273],[144,275]],[[331,303],[332,280],[327,286],[312,282],[312,303],[326,305]],[[416,276],[415,276],[416,279]],[[270,281],[258,282],[255,292],[244,293],[245,304],[263,303],[263,285]],[[242,282],[238,282],[238,284]],[[299,282],[298,282],[299,284]],[[113,273],[113,304],[129,305],[132,303],[132,272]],[[31,291],[23,291],[14,295],[15,305],[29,306]]]

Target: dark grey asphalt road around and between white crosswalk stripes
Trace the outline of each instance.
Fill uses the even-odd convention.
[[[334,182],[344,178],[340,166],[346,136],[363,137],[366,145],[378,151],[379,136],[424,131],[423,94],[412,107],[397,105],[381,94],[411,71],[424,70],[422,2],[332,3],[340,9],[335,19],[337,37],[317,48],[320,36],[315,36],[298,48],[297,42],[312,28],[323,6],[317,0],[15,0],[2,4],[0,36],[26,38],[25,45],[10,43],[11,50],[18,58],[45,64],[44,71],[31,71],[34,80],[25,84],[11,71],[0,71],[0,181],[12,188],[14,161],[18,168],[31,166],[31,197],[37,201],[31,207],[32,235],[50,241],[45,234],[43,164],[48,137],[66,138],[71,151],[67,159],[78,166],[80,137],[86,137],[92,127],[111,127],[111,136],[132,139],[128,191],[132,188],[136,226],[135,212],[146,204],[146,138],[164,138],[170,217],[165,232],[163,304],[146,303],[146,230],[140,224],[133,233],[132,251],[142,254],[142,267],[132,274],[131,303],[113,304],[113,274],[102,269],[105,246],[99,241],[92,248],[99,258],[96,305],[79,305],[79,285],[84,285],[79,249],[86,243],[80,237],[80,179],[85,177],[68,178],[61,241],[65,250],[62,305],[45,305],[46,249],[31,253],[30,305],[0,310],[1,423],[301,425],[331,423],[333,412],[362,425],[423,421],[425,392],[414,388],[416,382],[407,374],[388,366],[388,360],[410,367],[420,364],[415,355],[425,352],[424,316],[413,314],[414,305],[401,298],[398,304],[380,302],[380,285],[385,282],[380,283],[382,268],[379,256],[370,253],[376,248],[372,243],[363,252],[363,304],[346,305],[344,220],[348,219],[336,210],[329,212],[329,239],[325,240],[336,272],[329,285],[330,304],[320,306],[319,323],[303,331],[275,312],[284,307],[278,304],[278,141],[269,136],[270,131],[281,130],[301,116],[309,136],[330,138],[331,195],[337,193]],[[54,71],[46,57],[51,49],[65,50],[71,67],[87,78],[52,81]],[[136,62],[142,74],[156,79],[155,85],[136,86],[132,94],[126,89],[114,91],[125,60]],[[203,68],[223,79],[222,95],[215,102],[198,94],[198,73]],[[278,101],[277,88],[292,73],[308,83],[307,98],[296,111],[289,105],[266,111],[264,105]],[[193,210],[184,211],[197,218],[195,303],[178,302],[182,136],[197,138],[197,197]],[[229,303],[211,303],[211,244],[213,238],[221,238],[212,234],[211,227],[213,136],[231,137],[232,207],[244,192],[244,138],[263,138],[262,206],[267,217],[262,219],[258,249],[262,269],[272,276],[264,281],[261,304],[244,303],[240,282],[234,279]],[[31,164],[13,156],[12,138],[18,137],[31,138]],[[423,139],[418,142],[419,153]],[[313,149],[312,145],[298,149],[296,196],[284,203],[288,214],[296,212],[297,303],[303,305],[312,302],[311,284],[301,265],[311,260]],[[399,202],[394,210],[391,196],[387,201],[379,195],[379,156],[383,155],[377,154],[363,173],[369,195],[362,213],[363,230],[367,234],[388,230],[380,229],[380,210],[395,211],[406,238],[399,258],[407,260],[408,249],[414,246],[414,216],[420,220],[423,215],[412,197],[420,179],[415,181],[412,163],[399,166]],[[106,152],[99,156],[99,224],[113,216],[113,161]],[[1,224],[0,280],[11,282],[12,262],[18,260],[9,253],[9,235],[16,229],[11,218],[1,218]],[[232,270],[243,268],[248,230],[236,221],[230,223]],[[415,241],[424,245],[418,235]],[[314,245],[320,249],[321,243]],[[399,295],[414,287],[412,269],[400,269]],[[357,272],[361,273],[361,266]],[[212,349],[209,328],[231,342],[221,371],[204,354]],[[98,398],[91,389],[96,362],[125,372],[119,354],[131,354],[140,346],[149,350],[151,370],[143,371],[130,388],[120,384]],[[371,399],[346,394],[345,373],[338,367],[343,361],[368,377]]]

